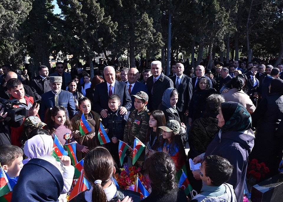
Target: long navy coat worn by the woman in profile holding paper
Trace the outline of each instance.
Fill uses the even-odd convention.
[[[244,183],[248,166],[249,153],[254,147],[254,133],[251,129],[218,133],[208,145],[205,156],[218,155],[229,160],[234,166],[230,180],[235,190],[237,201],[243,201]]]

